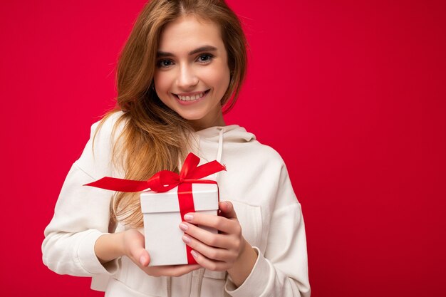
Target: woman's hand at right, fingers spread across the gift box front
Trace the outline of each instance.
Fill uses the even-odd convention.
[[[252,259],[254,253],[254,261],[245,266],[248,267],[248,273],[242,279],[249,275],[254,266],[256,254],[254,249],[247,243],[242,236],[242,227],[237,219],[237,214],[231,202],[219,202],[219,210],[221,216],[211,214],[190,213],[185,214],[185,221],[180,224],[180,229],[185,232],[182,237],[185,244],[190,246],[192,256],[202,267],[212,271],[228,271],[237,264],[237,261],[245,261],[246,257],[241,257],[246,249]],[[202,228],[195,226],[209,226],[219,231],[214,234]],[[237,265],[239,266],[239,265]],[[237,271],[236,271],[237,273]],[[245,273],[246,274],[246,273]]]

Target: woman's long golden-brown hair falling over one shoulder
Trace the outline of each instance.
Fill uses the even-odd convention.
[[[239,95],[247,69],[247,43],[239,19],[226,3],[223,0],[147,3],[120,54],[117,107],[101,122],[117,110],[124,111],[115,124],[117,127],[125,123],[113,146],[113,162],[125,169],[126,179],[145,180],[160,170],[178,172],[177,166],[187,153],[192,128],[167,108],[152,88],[162,29],[183,15],[194,15],[219,25],[231,73],[227,92],[220,101],[224,113],[234,106]],[[138,193],[118,192],[110,209],[116,220],[142,226]]]

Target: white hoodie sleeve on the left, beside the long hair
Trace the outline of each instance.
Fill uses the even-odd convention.
[[[81,158],[68,172],[53,219],[44,231],[43,264],[56,273],[94,276],[115,273],[118,269],[118,261],[109,262],[105,268],[94,251],[96,239],[108,233],[113,192],[83,186],[113,173],[110,170],[111,130],[100,129],[93,155],[96,127],[97,123],[92,126],[90,140]]]

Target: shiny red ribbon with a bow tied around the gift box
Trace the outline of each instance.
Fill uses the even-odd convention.
[[[95,182],[84,185],[118,192],[140,192],[145,189],[151,189],[154,192],[167,192],[170,189],[178,187],[178,202],[180,204],[181,219],[183,219],[188,212],[195,212],[192,184],[217,184],[213,180],[202,178],[226,170],[226,167],[217,161],[208,162],[201,166],[198,166],[198,164],[199,157],[191,152],[187,155],[180,174],[169,170],[162,170],[146,181],[103,177]],[[187,263],[197,264],[192,254],[190,254],[190,251],[192,249],[186,245]]]

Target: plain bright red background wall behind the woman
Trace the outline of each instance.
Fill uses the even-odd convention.
[[[2,296],[101,296],[41,241],[144,2],[0,3]],[[228,2],[251,53],[227,123],[288,165],[313,296],[446,296],[446,2]]]

